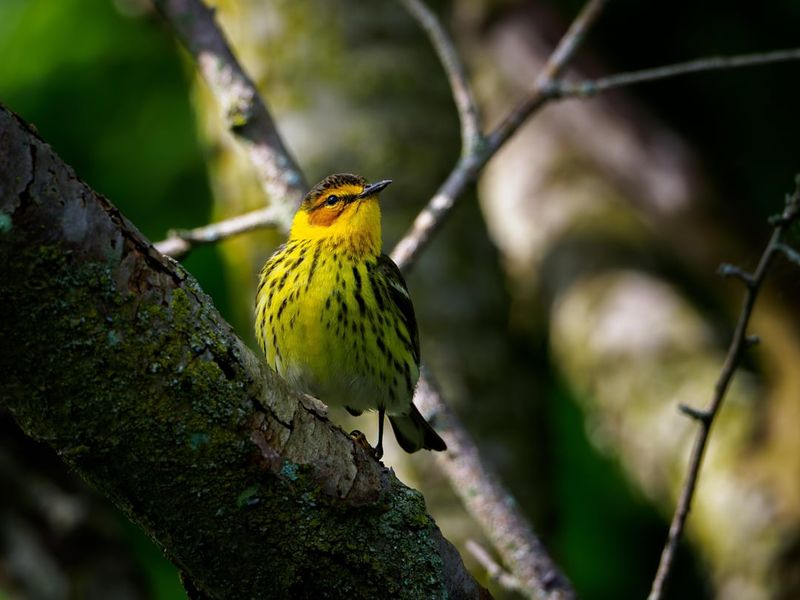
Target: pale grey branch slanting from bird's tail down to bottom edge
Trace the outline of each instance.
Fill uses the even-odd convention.
[[[437,464],[511,570],[517,589],[529,598],[575,598],[569,581],[550,559],[513,496],[481,460],[477,446],[427,373],[420,377],[414,401],[447,443],[447,452],[436,454]]]

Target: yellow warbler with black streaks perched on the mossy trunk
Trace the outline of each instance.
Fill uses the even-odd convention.
[[[306,195],[289,240],[264,265],[256,335],[270,367],[296,388],[351,414],[378,411],[406,452],[444,450],[411,402],[419,378],[414,307],[381,253],[378,193],[390,180],[330,175]]]

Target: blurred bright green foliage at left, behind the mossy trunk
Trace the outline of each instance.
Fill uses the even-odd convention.
[[[81,179],[158,240],[170,227],[208,221],[204,154],[174,40],[155,15],[117,6],[136,4],[3,0],[0,102],[33,123]],[[186,266],[225,312],[220,265],[208,248]],[[185,597],[159,549],[137,527],[124,531],[152,597]]]

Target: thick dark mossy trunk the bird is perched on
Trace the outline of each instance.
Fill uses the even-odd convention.
[[[475,598],[422,496],[0,108],[0,407],[213,598]]]

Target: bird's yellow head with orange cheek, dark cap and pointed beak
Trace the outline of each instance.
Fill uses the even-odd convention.
[[[392,181],[367,183],[359,175],[329,175],[306,194],[292,223],[292,239],[342,239],[380,252],[378,194]]]

